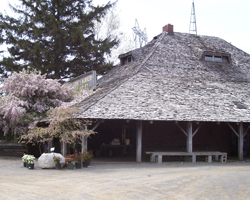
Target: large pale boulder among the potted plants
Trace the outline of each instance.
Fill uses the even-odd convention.
[[[43,153],[39,158],[38,158],[38,166],[45,169],[45,168],[55,168],[55,162],[53,157],[59,157],[60,158],[60,163],[64,164],[65,159],[60,153]]]

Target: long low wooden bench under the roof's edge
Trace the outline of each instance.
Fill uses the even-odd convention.
[[[192,162],[196,162],[197,156],[205,156],[208,163],[212,162],[212,157],[215,157],[215,160],[219,160],[220,162],[227,162],[227,153],[219,152],[219,151],[197,151],[197,152],[163,152],[163,151],[148,151],[146,154],[150,154],[150,162],[162,163],[162,156],[185,156],[191,157]]]

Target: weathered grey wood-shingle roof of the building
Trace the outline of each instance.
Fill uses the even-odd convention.
[[[223,62],[205,61],[205,55]],[[76,106],[93,119],[250,122],[250,55],[230,43],[185,33],[155,37],[121,55],[134,61],[98,80]]]

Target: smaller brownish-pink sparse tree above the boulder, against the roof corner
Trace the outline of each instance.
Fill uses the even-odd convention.
[[[83,136],[95,134],[88,130],[91,121],[77,118],[79,109],[74,107],[77,103],[90,95],[89,90],[84,89],[84,85],[71,87],[73,98],[69,102],[63,102],[59,107],[51,108],[47,112],[46,122],[48,126],[30,126],[28,134],[22,135],[20,141],[34,145],[35,143],[52,142],[54,138],[59,138],[60,142],[74,146],[81,143]]]

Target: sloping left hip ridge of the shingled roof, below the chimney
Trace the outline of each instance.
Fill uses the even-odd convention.
[[[162,39],[164,38],[166,32],[163,32],[162,35],[159,37],[158,41],[151,47],[151,50],[149,50],[149,53],[147,54],[147,56],[145,58],[143,58],[142,62],[140,62],[139,66],[128,76],[126,77],[124,80],[122,80],[120,83],[118,83],[117,85],[115,85],[114,87],[112,87],[110,90],[108,90],[107,92],[105,92],[103,95],[101,95],[98,99],[96,99],[94,102],[92,102],[91,104],[87,105],[85,108],[82,109],[82,111],[86,111],[88,110],[91,106],[93,106],[94,104],[96,104],[98,101],[100,101],[101,99],[103,99],[105,96],[107,96],[108,94],[110,94],[112,91],[114,91],[115,89],[117,89],[119,86],[121,86],[123,83],[125,83],[128,79],[130,79],[131,77],[133,77],[134,75],[136,75],[141,68],[143,67],[143,64],[152,56],[152,54],[155,52],[155,49],[157,46],[159,46],[160,42],[162,41]],[[137,62],[139,62],[141,59],[139,59]]]

